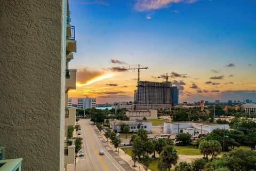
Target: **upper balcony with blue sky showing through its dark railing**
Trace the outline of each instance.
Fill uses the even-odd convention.
[[[67,25],[67,52],[76,52],[75,26]]]

